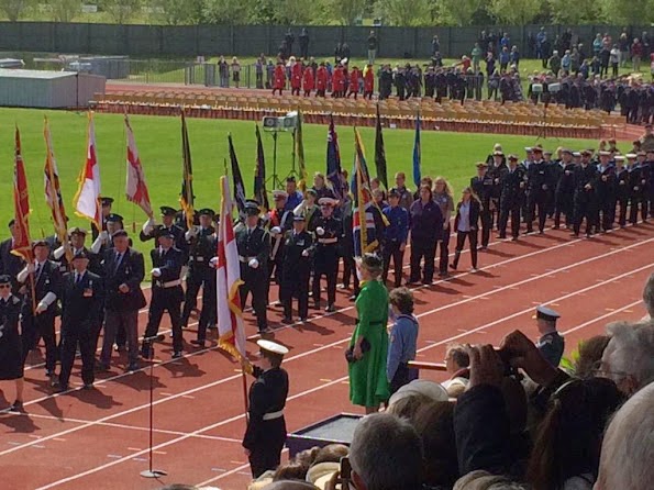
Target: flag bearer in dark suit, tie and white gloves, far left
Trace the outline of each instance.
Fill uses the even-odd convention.
[[[45,342],[45,372],[55,376],[57,344],[55,316],[60,294],[62,276],[57,264],[48,260],[49,247],[43,240],[32,245],[34,263],[18,274],[18,281],[25,286],[25,302],[22,314],[23,363],[27,353],[36,347],[38,338]],[[32,276],[33,279],[30,279]],[[32,280],[34,288],[32,288]]]

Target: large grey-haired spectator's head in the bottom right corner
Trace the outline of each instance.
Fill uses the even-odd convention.
[[[616,414],[603,438],[595,490],[647,490],[654,481],[654,383]]]

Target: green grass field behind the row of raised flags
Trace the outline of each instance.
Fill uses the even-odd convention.
[[[53,229],[49,210],[43,193],[43,164],[45,144],[43,140],[43,116],[47,114],[51,124],[55,156],[59,168],[64,200],[71,225],[87,226],[84,220],[73,214],[73,198],[77,189],[77,176],[85,162],[86,113],[63,111],[38,111],[21,109],[0,110],[0,222],[7,223],[13,215],[13,127],[21,130],[23,158],[25,160],[30,203],[32,207],[32,237],[49,235]],[[141,162],[149,186],[153,205],[177,207],[181,182],[180,124],[177,118],[133,116],[132,127],[141,154]],[[255,133],[253,122],[223,120],[188,120],[189,140],[193,162],[193,186],[196,208],[218,209],[220,203],[219,179],[223,174],[228,155],[228,133],[234,138],[243,178],[252,191],[255,166]],[[306,160],[309,172],[325,170],[326,126],[304,125]],[[336,127],[341,145],[343,168],[350,170],[353,163],[353,129]],[[362,129],[370,172],[375,175],[374,129]],[[124,198],[125,134],[122,116],[96,115],[97,154],[101,168],[102,193],[115,198],[114,212],[125,218],[125,227],[132,223],[140,230],[145,221],[143,212]],[[413,132],[385,130],[386,155],[389,176],[403,170],[411,180]],[[505,152],[523,154],[523,146],[534,144],[534,137],[505,135],[441,133],[422,131],[422,174],[443,175],[458,192],[475,175],[474,164],[486,158],[495,143],[501,143]],[[542,141],[545,147],[555,149],[558,145],[574,148],[587,147],[596,142],[573,140]],[[266,167],[268,176],[273,170],[273,138],[264,134]],[[278,174],[287,176],[291,167],[291,136],[280,134],[278,141]],[[268,188],[269,190],[270,187]],[[1,237],[7,232],[0,233]],[[136,246],[143,248],[136,241]]]

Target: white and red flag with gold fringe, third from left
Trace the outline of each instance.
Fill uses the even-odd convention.
[[[89,112],[87,131],[87,157],[79,174],[79,188],[75,194],[75,214],[96,223],[102,229],[102,207],[100,204],[100,164],[96,154],[96,125],[93,113]]]

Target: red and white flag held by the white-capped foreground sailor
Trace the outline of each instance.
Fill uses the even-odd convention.
[[[241,265],[232,223],[234,203],[225,176],[220,178],[222,190],[218,224],[217,307],[219,347],[237,359],[246,358],[245,328],[241,310]]]

